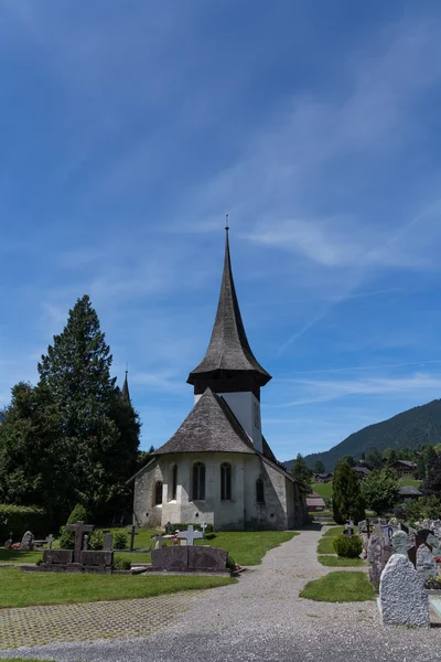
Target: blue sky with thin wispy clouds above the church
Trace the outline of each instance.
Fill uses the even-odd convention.
[[[0,0],[0,404],[89,293],[160,446],[229,212],[280,459],[441,394],[441,6]]]

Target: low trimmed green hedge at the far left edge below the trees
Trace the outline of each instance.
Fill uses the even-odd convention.
[[[13,505],[0,503],[0,545],[12,533],[14,542],[20,542],[26,531],[35,536],[47,535],[47,514],[36,505]]]

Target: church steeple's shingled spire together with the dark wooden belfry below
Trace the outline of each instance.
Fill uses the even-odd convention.
[[[259,399],[260,387],[271,375],[260,365],[249,346],[237,300],[229,254],[228,225],[225,237],[224,273],[216,319],[208,349],[189,375],[195,395],[209,386],[216,393],[251,392]]]

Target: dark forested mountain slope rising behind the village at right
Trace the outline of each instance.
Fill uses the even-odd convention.
[[[374,447],[383,452],[390,447],[418,448],[420,444],[441,444],[441,399],[369,425],[330,450],[306,456],[305,460],[309,467],[321,460],[327,470],[333,470],[336,460],[343,456],[361,458],[363,452],[366,453]],[[292,461],[286,465],[290,466]]]

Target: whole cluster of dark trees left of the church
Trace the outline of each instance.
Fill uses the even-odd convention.
[[[0,426],[0,501],[43,506],[60,523],[76,503],[100,516],[137,469],[140,423],[110,375],[112,356],[87,296],[37,365],[12,388]]]

